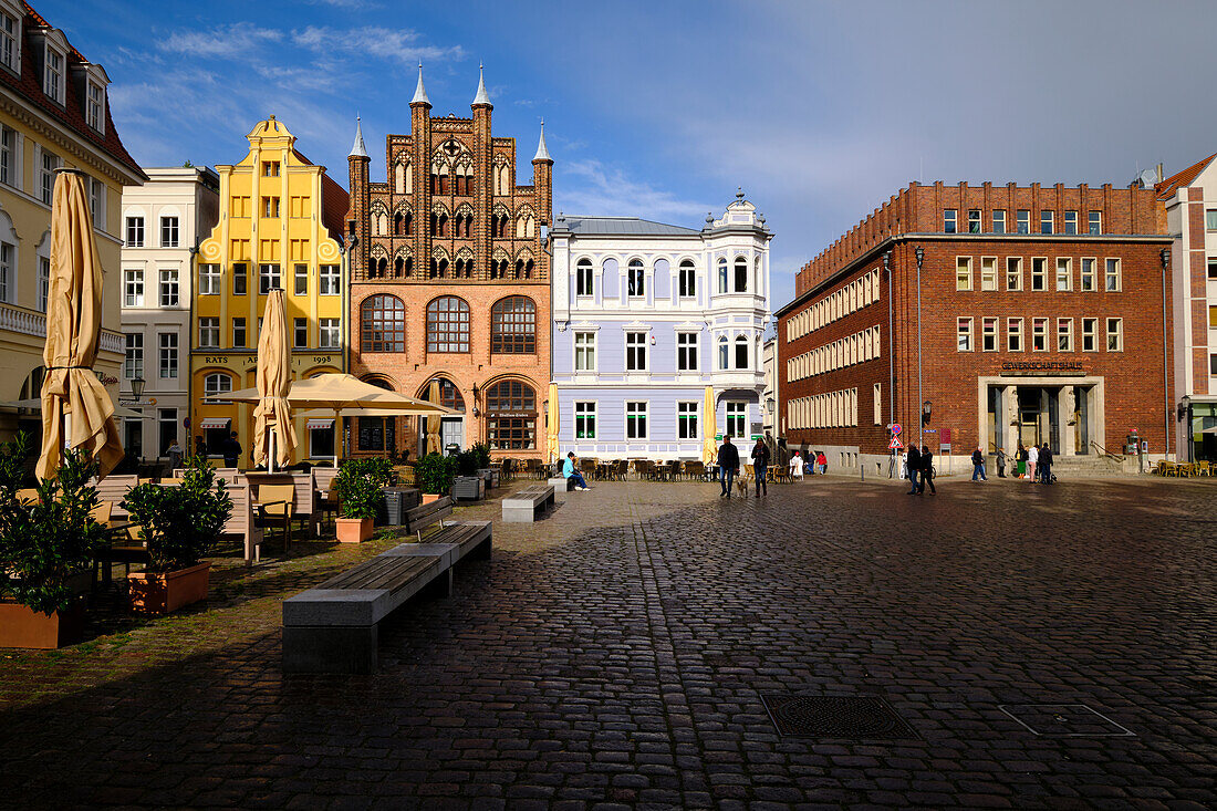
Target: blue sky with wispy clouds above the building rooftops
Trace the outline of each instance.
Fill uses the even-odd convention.
[[[383,178],[417,62],[458,116],[486,62],[522,177],[545,118],[555,211],[700,226],[744,186],[776,233],[774,308],[909,180],[1127,184],[1217,151],[1201,0],[34,5],[106,67],[146,166],[236,161],[274,113],[346,186],[358,110]]]

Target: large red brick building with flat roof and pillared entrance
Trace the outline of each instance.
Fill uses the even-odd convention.
[[[846,465],[881,465],[893,423],[921,441],[925,409],[953,455],[1172,452],[1170,245],[1135,184],[910,184],[798,272],[779,431]]]

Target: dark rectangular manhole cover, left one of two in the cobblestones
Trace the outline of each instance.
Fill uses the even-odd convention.
[[[762,695],[778,732],[791,738],[899,740],[916,733],[881,698]]]

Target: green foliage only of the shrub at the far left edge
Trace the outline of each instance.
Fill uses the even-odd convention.
[[[19,434],[0,446],[0,593],[49,615],[72,604],[71,578],[89,569],[106,527],[90,515],[97,465],[84,451],[66,452],[56,479],[38,485],[37,500],[21,503],[30,444]]]

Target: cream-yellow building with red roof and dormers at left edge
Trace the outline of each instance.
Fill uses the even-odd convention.
[[[19,0],[0,0],[0,440],[41,435],[55,169],[83,172],[103,270],[94,371],[118,402],[123,186],[146,178],[110,117],[106,71]]]

